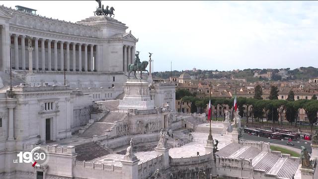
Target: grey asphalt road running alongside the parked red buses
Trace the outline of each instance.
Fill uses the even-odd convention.
[[[277,139],[268,139],[266,137],[258,137],[258,136],[254,136],[254,135],[248,135],[243,133],[243,139],[245,140],[251,140],[251,141],[264,141],[264,142],[270,142],[273,144],[280,144],[280,145],[284,145],[284,146],[288,146],[288,147],[294,147],[297,149],[302,149],[301,146],[304,146],[307,148],[307,151],[309,153],[312,153],[312,147],[310,146],[310,142],[308,141],[304,141],[304,140],[299,140],[299,143],[297,141],[292,141],[291,143],[293,143],[295,146],[290,146],[290,145],[286,145],[286,143],[288,142],[288,140],[281,141],[281,140],[277,140]],[[307,144],[305,144],[305,142],[307,142]]]

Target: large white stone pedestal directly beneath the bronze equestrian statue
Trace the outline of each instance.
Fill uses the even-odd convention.
[[[119,101],[119,109],[154,109],[155,102],[151,99],[150,83],[147,80],[127,80],[124,91],[125,96]]]

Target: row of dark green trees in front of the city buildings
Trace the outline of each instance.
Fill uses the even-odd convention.
[[[239,115],[246,116],[246,123],[248,123],[248,110],[249,106],[251,107],[252,113],[252,122],[254,122],[254,118],[258,119],[258,121],[263,122],[264,116],[266,117],[266,121],[272,121],[273,123],[279,122],[280,118],[281,125],[283,125],[283,118],[286,118],[288,122],[292,125],[295,123],[297,126],[298,112],[300,109],[304,109],[309,122],[311,124],[311,129],[313,128],[313,124],[317,122],[317,112],[318,112],[318,100],[316,95],[312,96],[311,100],[308,99],[294,99],[294,92],[290,91],[288,94],[288,98],[286,100],[278,99],[278,88],[275,86],[271,86],[269,100],[265,100],[262,98],[262,87],[257,85],[254,89],[254,97],[253,98],[245,98],[238,97],[237,104],[239,108]],[[205,109],[209,103],[209,98],[200,99],[196,97],[195,93],[191,93],[188,90],[179,89],[176,91],[176,99],[181,100],[180,102],[180,110],[182,102],[187,102],[190,111],[193,112],[206,112]],[[226,106],[229,106],[232,110],[232,118],[233,118],[233,103],[234,98],[211,98],[211,103],[214,106],[221,106],[221,110],[223,111],[223,116],[225,120],[225,110]],[[244,110],[245,109],[245,110]],[[285,115],[283,115],[285,112]],[[218,107],[216,108],[216,113],[218,115]],[[245,113],[245,115],[244,115]]]

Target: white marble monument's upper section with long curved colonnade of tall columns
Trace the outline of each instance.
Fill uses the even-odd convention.
[[[138,42],[127,28],[107,16],[71,23],[0,6],[0,69],[8,73],[11,56],[28,84],[63,85],[65,69],[71,88],[121,87]]]

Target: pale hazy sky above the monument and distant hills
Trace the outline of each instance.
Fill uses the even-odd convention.
[[[76,22],[95,0],[1,1]],[[318,67],[318,1],[111,1],[154,71]]]

